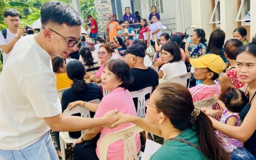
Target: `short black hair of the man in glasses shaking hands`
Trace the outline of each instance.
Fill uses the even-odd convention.
[[[41,23],[45,26],[47,23],[57,25],[66,24],[68,26],[81,25],[82,21],[78,13],[63,2],[45,2],[41,7]]]

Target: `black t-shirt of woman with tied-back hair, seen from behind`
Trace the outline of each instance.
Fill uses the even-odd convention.
[[[99,99],[103,97],[101,89],[97,84],[90,83],[85,92],[73,92],[71,89],[67,89],[63,92],[61,98],[62,112],[67,108],[70,102],[75,102],[76,100],[83,100],[89,102],[91,100]],[[91,118],[93,118],[95,113],[90,111]],[[74,114],[74,116],[81,116],[80,114]],[[70,137],[79,138],[81,132],[69,132]]]

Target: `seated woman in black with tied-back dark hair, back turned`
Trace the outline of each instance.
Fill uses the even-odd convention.
[[[67,108],[68,104],[76,100],[83,100],[89,102],[91,100],[99,99],[101,100],[103,95],[101,89],[97,84],[86,84],[83,77],[85,76],[85,67],[78,60],[72,60],[67,65],[67,75],[68,78],[72,79],[73,84],[70,89],[67,89],[62,94],[61,105],[62,112]],[[91,118],[93,118],[94,113],[90,112]],[[79,114],[75,114],[80,116]],[[61,155],[60,152],[60,142],[59,142],[59,132],[54,132],[57,143],[57,154]],[[69,132],[70,137],[78,138],[81,136],[81,131],[79,132]]]

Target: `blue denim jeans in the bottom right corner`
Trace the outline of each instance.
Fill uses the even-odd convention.
[[[238,148],[237,150],[234,150],[233,153],[231,153],[231,159],[250,159],[255,160],[256,158],[250,154],[246,148]]]

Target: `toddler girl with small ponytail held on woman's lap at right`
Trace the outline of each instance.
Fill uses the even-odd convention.
[[[221,116],[220,122],[224,124],[228,124],[231,126],[240,126],[240,116],[239,113],[242,111],[244,106],[246,106],[248,102],[248,98],[246,94],[242,92],[240,89],[231,88],[226,92],[223,97],[224,102],[222,102],[218,95],[213,95],[216,102],[221,106],[224,110]],[[237,148],[242,148],[244,144],[240,140],[236,140],[234,138],[228,137],[221,132],[216,131],[216,134],[221,138],[221,140],[226,144],[228,151],[232,153]]]

